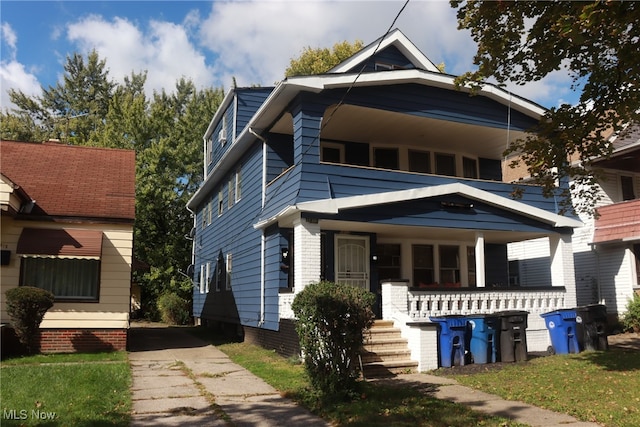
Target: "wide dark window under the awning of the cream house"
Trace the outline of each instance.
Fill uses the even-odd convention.
[[[100,260],[23,257],[20,285],[46,289],[56,300],[98,301]]]

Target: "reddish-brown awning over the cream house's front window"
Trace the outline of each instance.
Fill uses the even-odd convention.
[[[25,228],[16,252],[22,256],[94,258],[102,255],[102,231]]]

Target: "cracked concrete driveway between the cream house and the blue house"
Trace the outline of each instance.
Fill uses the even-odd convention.
[[[328,426],[181,328],[129,335],[132,426]]]

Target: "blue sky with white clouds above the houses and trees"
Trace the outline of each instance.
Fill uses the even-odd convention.
[[[8,90],[27,95],[55,86],[66,58],[95,49],[109,76],[123,82],[147,71],[145,90],[171,92],[178,79],[198,88],[271,86],[304,48],[332,47],[383,36],[405,1],[0,1],[0,107]],[[448,1],[410,0],[400,29],[449,74],[472,70],[475,42],[457,29]],[[513,93],[550,108],[573,103],[568,75],[559,71]]]

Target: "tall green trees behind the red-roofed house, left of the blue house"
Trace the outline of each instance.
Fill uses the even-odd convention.
[[[190,301],[191,282],[181,273],[191,262],[185,239],[193,219],[185,209],[202,181],[202,135],[224,96],[180,79],[175,91],[145,95],[146,72],[112,83],[94,51],[85,61],[67,57],[64,76],[41,96],[13,91],[17,109],[2,113],[2,137],[136,151],[134,256],[150,265],[134,272],[147,315],[158,318],[157,298],[167,292]]]

